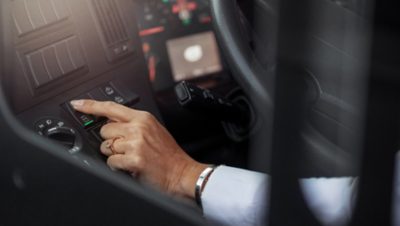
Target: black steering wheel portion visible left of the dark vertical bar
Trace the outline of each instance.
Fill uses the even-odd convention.
[[[210,2],[224,57],[243,92],[251,98],[257,118],[257,126],[250,134],[249,165],[254,170],[267,172],[269,166],[265,159],[269,159],[271,146],[274,93],[274,37],[270,35],[276,33],[274,7],[261,0]],[[247,12],[254,15],[254,20],[245,16],[240,4],[259,6]],[[257,24],[259,21],[262,23]]]

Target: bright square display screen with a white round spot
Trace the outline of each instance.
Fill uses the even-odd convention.
[[[169,40],[167,49],[175,81],[222,71],[221,59],[213,32]]]

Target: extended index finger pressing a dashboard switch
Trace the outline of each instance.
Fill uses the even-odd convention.
[[[136,110],[111,101],[100,102],[95,100],[73,100],[70,103],[76,111],[107,117],[118,122],[130,121],[136,112]]]

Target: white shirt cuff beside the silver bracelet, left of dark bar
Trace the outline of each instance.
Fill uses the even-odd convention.
[[[268,180],[262,173],[216,168],[201,197],[205,217],[223,225],[264,225]]]

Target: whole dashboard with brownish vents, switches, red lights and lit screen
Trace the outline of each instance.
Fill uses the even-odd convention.
[[[74,111],[69,101],[114,101],[187,134],[196,123],[188,128],[185,121],[197,115],[177,105],[175,84],[213,81],[218,89],[219,79],[230,81],[207,0],[9,0],[2,6],[10,9],[3,33],[12,63],[2,81],[12,110],[37,135],[88,156],[80,158],[88,165],[104,160],[98,150],[106,120]],[[186,125],[174,129],[176,118]],[[215,121],[204,121],[214,133],[202,128],[194,137],[223,133]]]

